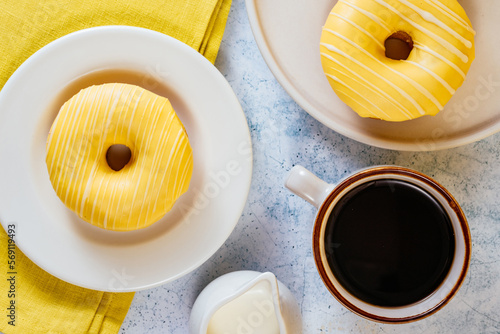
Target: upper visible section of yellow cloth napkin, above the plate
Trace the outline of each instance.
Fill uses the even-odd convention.
[[[231,0],[1,0],[0,88],[29,56],[71,32],[130,25],[172,36],[212,63]]]

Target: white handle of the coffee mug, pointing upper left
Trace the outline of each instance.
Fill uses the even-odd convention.
[[[304,167],[297,165],[290,170],[285,187],[319,209],[335,185],[326,183]]]

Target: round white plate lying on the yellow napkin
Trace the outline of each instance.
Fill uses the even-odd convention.
[[[194,151],[188,192],[160,221],[133,232],[79,219],[56,196],[45,164],[60,105],[110,81],[168,97]],[[0,92],[0,157],[0,221],[15,224],[18,247],[47,272],[103,291],[151,288],[205,262],[238,222],[252,173],[246,118],[220,72],[173,38],[119,26],[63,37],[15,72]]]

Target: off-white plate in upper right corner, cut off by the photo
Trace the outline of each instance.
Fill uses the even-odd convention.
[[[390,123],[363,119],[333,92],[319,55],[321,29],[336,0],[246,0],[257,45],[290,96],[329,128],[368,145],[412,151],[451,148],[500,131],[500,6],[462,0],[476,35],[466,82],[437,116]]]

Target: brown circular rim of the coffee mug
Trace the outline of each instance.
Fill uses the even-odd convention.
[[[422,312],[420,314],[416,314],[410,317],[405,317],[405,318],[388,318],[388,317],[382,317],[378,316],[369,312],[366,312],[359,307],[353,305],[350,303],[347,299],[345,299],[340,292],[335,288],[335,286],[330,282],[328,279],[328,275],[326,273],[326,269],[323,265],[323,262],[321,260],[321,252],[320,252],[320,234],[321,234],[321,226],[323,222],[323,217],[325,216],[326,212],[328,211],[330,204],[333,202],[333,200],[340,194],[342,190],[347,188],[349,185],[353,184],[354,182],[357,182],[361,179],[364,179],[369,176],[374,176],[374,175],[383,175],[383,174],[395,174],[395,175],[404,175],[404,176],[410,176],[412,178],[415,178],[419,181],[422,181],[426,183],[428,186],[432,187],[434,190],[436,190],[438,193],[440,193],[443,198],[445,198],[448,203],[450,204],[450,207],[455,211],[459,221],[460,221],[460,226],[462,228],[462,232],[464,235],[464,240],[465,240],[465,259],[464,259],[464,264],[462,266],[462,269],[460,271],[460,276],[458,277],[457,282],[454,284],[453,289],[448,293],[446,298],[443,298],[443,300],[437,304],[435,307],[432,309],[429,309],[425,312]],[[314,261],[316,262],[316,268],[318,269],[319,275],[321,276],[321,279],[323,280],[323,283],[326,285],[330,293],[347,309],[351,310],[352,312],[358,314],[359,316],[366,318],[368,320],[373,320],[377,322],[382,322],[382,323],[407,323],[407,322],[413,322],[416,320],[423,319],[425,317],[428,317],[429,315],[437,312],[439,309],[441,309],[444,305],[446,305],[456,294],[456,292],[459,290],[460,286],[462,285],[465,276],[467,274],[467,270],[469,268],[470,264],[470,257],[471,257],[471,241],[470,241],[470,231],[469,231],[469,225],[467,223],[467,220],[465,218],[465,215],[460,208],[460,205],[458,202],[455,200],[455,198],[439,183],[431,179],[429,176],[426,176],[420,172],[414,171],[409,168],[405,167],[396,167],[396,166],[381,166],[381,167],[373,167],[369,168],[366,170],[362,170],[347,179],[343,180],[340,182],[335,189],[328,195],[327,199],[323,202],[321,207],[319,208],[318,214],[316,215],[316,220],[314,222],[314,229],[313,229],[313,253],[314,253]]]

